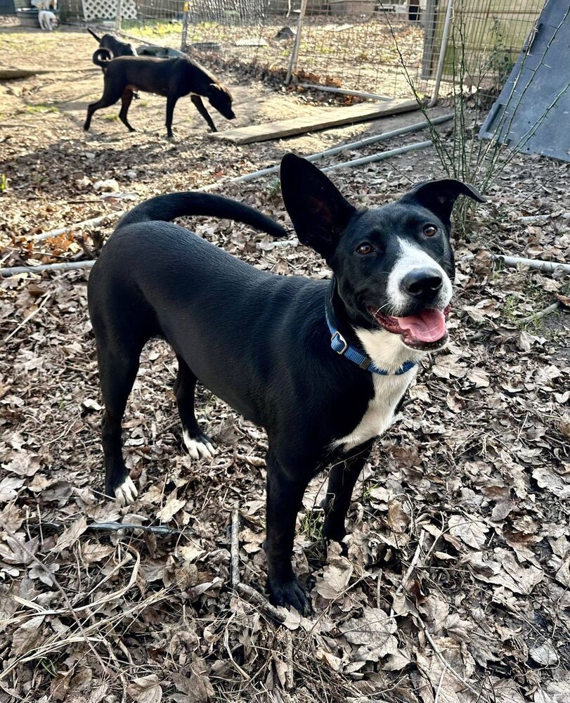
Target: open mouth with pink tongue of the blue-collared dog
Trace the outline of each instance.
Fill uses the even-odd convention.
[[[446,320],[449,306],[444,310],[425,309],[417,315],[392,317],[368,306],[375,321],[394,335],[401,335],[404,344],[413,349],[441,347],[447,340]]]

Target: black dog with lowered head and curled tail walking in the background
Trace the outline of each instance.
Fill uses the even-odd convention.
[[[89,129],[93,112],[107,108],[121,98],[119,117],[129,131],[134,131],[134,127],[131,127],[127,120],[127,112],[133,99],[133,91],[136,90],[157,93],[167,98],[166,125],[169,137],[172,136],[172,116],[176,101],[188,93],[193,93],[190,100],[212,131],[217,130],[200,96],[208,98],[210,105],[221,112],[227,120],[235,119],[231,108],[230,91],[195,61],[189,58],[134,58],[131,56],[102,61],[98,57],[99,51],[93,54],[93,63],[105,68],[103,97],[87,108],[87,119],[83,129]]]

